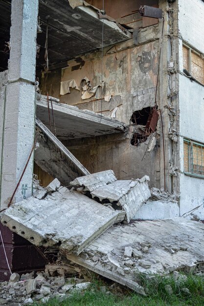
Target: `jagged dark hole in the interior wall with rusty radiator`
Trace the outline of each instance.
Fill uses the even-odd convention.
[[[147,107],[134,111],[131,121],[136,126],[134,127],[131,145],[138,146],[140,143],[145,142],[149,135],[156,131],[158,119],[157,107]]]

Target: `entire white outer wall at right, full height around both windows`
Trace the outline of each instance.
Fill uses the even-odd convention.
[[[180,38],[190,46],[204,53],[204,1],[179,0]],[[180,39],[180,72],[183,70],[182,40]],[[204,143],[204,86],[190,81],[179,74],[180,107],[180,215],[194,209],[194,214],[204,219],[204,179],[183,174],[183,138]],[[192,218],[192,216],[190,216]],[[190,218],[188,217],[188,218]]]

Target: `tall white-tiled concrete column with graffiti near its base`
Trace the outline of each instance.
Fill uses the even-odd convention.
[[[12,0],[10,60],[1,162],[0,209],[6,208],[27,162],[35,131],[38,0]],[[13,202],[32,194],[33,157]]]

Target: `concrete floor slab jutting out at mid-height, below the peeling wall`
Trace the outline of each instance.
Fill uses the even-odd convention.
[[[127,131],[125,123],[93,111],[78,109],[77,107],[55,101],[52,102],[52,105],[56,136],[61,141]],[[50,102],[49,109],[51,109]],[[42,96],[41,100],[37,100],[36,115],[49,128],[46,96]],[[50,121],[51,129],[54,131],[52,116]]]

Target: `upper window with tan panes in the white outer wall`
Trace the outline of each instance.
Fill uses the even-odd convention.
[[[192,77],[204,85],[204,58],[199,52],[186,45],[182,46],[182,52],[183,69],[186,69]]]

